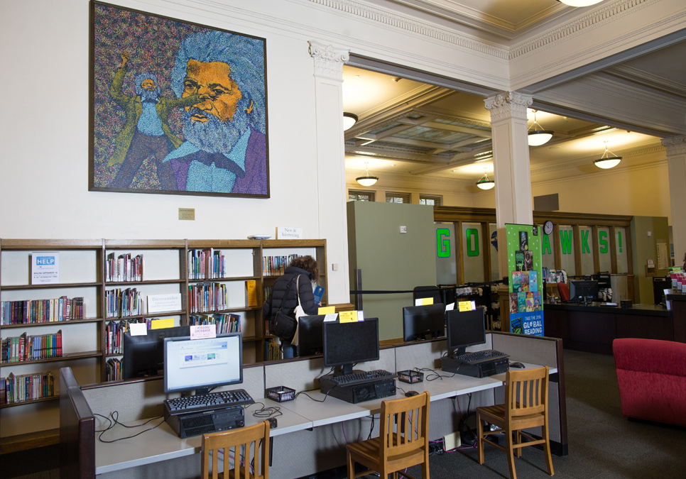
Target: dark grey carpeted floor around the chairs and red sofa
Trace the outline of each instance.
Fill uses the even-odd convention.
[[[565,375],[570,453],[563,457],[552,456],[555,478],[686,477],[686,429],[624,418],[612,356],[565,351]],[[523,456],[515,461],[518,478],[550,477],[545,469],[543,451],[524,448]],[[28,475],[12,474],[9,467],[3,472],[2,477],[7,479],[59,477],[54,468]],[[415,478],[421,477],[418,468],[408,470],[408,473]],[[477,463],[476,449],[431,456],[430,473],[432,479],[509,478],[505,453],[492,447],[486,448],[483,466]],[[338,479],[339,474],[344,475],[344,470],[326,477]],[[324,478],[325,475],[316,477]]]

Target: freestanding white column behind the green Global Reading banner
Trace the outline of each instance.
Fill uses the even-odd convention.
[[[526,108],[531,95],[505,92],[484,100],[491,112],[498,263],[507,275],[506,223],[533,224]]]

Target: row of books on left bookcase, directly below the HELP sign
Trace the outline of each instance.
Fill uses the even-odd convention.
[[[83,297],[0,302],[0,324],[35,324],[84,319]]]

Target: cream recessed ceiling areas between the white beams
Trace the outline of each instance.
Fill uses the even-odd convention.
[[[408,16],[450,22],[456,29],[477,28],[499,36],[503,45],[511,38],[546,23],[555,23],[560,16],[576,10],[556,0],[372,0],[371,3]],[[686,43],[677,43],[592,75],[639,89],[660,101],[686,104],[684,58]],[[476,182],[484,170],[489,174],[493,171],[490,114],[484,107],[483,97],[350,66],[344,67],[343,79],[344,111],[359,116],[359,122],[345,133],[346,170],[352,175],[364,171],[365,163],[369,163],[372,174],[393,170],[394,175],[417,180],[454,178]],[[549,109],[560,111],[552,106]],[[571,110],[567,113],[567,110],[565,116],[543,110],[536,114],[538,123],[555,131],[555,135],[549,143],[530,148],[532,181],[549,177],[552,171],[559,176],[599,172],[592,160],[602,155],[606,141],[611,152],[631,156],[636,150],[659,145],[660,136],[669,136],[660,134],[665,128],[648,124],[648,119],[644,125],[632,126],[625,121],[612,121],[609,116],[600,120],[595,115],[589,121],[584,114]],[[529,118],[531,125],[533,114]],[[646,134],[651,132],[653,135]],[[636,161],[640,159],[625,159],[616,170]]]

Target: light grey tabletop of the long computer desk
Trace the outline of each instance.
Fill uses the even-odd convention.
[[[525,363],[525,365],[527,368],[538,367],[528,363]],[[556,372],[557,370],[555,368],[550,369],[551,374]],[[489,378],[471,378],[464,375],[452,375],[445,371],[437,371],[437,373],[440,373],[443,378],[432,381],[424,380],[423,382],[415,382],[413,384],[396,381],[396,388],[402,388],[404,391],[428,391],[431,400],[437,401],[447,397],[455,397],[471,392],[494,389],[495,387],[503,385],[505,380],[504,373]],[[313,427],[323,426],[325,424],[367,417],[370,414],[377,414],[381,410],[382,400],[352,404],[335,397],[327,397],[324,402],[317,402],[317,400],[322,400],[325,395],[319,390],[306,392],[312,399],[304,394],[299,395],[293,401],[281,403],[266,398],[255,399],[256,402],[261,402],[265,404],[266,407],[281,407],[282,415],[277,417],[278,426],[276,429],[271,429],[271,436],[280,436],[281,434],[288,434],[303,429],[312,429]],[[386,397],[383,398],[383,400],[399,399],[404,396],[403,392],[398,391],[395,396]],[[246,408],[246,426],[251,426],[252,424],[257,424],[264,420],[262,418],[254,417],[252,414],[258,407],[259,404],[252,404]],[[127,426],[142,424],[143,422],[146,422],[146,420],[131,422],[127,424]],[[141,426],[141,430],[148,429],[148,427],[159,424],[160,422],[160,426],[155,429],[151,429],[150,431],[146,431],[143,434],[130,439],[124,439],[114,443],[103,443],[96,440],[96,474],[110,473],[116,470],[143,466],[160,461],[167,461],[172,458],[200,453],[202,436],[180,439],[162,418],[151,421],[147,426]],[[104,420],[100,417],[97,417],[96,429],[98,431],[104,429]],[[131,436],[137,432],[139,431],[126,429],[122,426],[115,426],[111,431],[104,433],[102,439],[111,441],[113,439]],[[99,435],[99,433],[97,433],[97,435]]]

